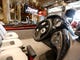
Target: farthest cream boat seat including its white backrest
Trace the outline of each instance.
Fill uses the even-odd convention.
[[[18,38],[18,34],[12,31],[6,31],[6,29],[0,24],[0,35],[3,37],[3,39],[14,39]]]

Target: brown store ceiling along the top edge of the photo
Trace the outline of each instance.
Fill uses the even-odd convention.
[[[62,5],[63,1],[65,3],[70,3],[78,0],[26,0],[26,1],[31,7],[42,9]]]

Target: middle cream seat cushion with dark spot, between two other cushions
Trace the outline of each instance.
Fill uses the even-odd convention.
[[[13,47],[22,47],[23,43],[19,39],[2,40],[0,50],[6,50]]]

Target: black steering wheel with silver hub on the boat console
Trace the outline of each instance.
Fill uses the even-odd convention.
[[[52,28],[52,22],[50,19],[46,19],[46,20],[39,22],[34,31],[33,38],[36,41],[43,40],[44,38],[48,36],[51,28]]]

